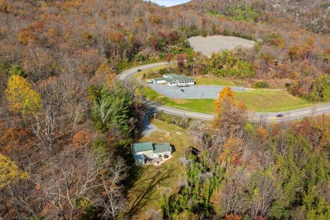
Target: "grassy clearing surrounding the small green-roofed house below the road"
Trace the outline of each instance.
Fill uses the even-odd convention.
[[[173,124],[168,124],[160,120],[152,122],[157,126],[157,131],[148,137],[143,137],[139,142],[151,141],[153,143],[168,142],[173,144],[175,152],[173,157],[160,166],[141,166],[140,175],[135,184],[129,190],[129,208],[133,214],[132,219],[147,219],[148,210],[159,210],[159,199],[164,190],[177,190],[177,181],[184,177],[184,165],[179,162],[180,157],[184,157],[184,152],[190,146],[191,137],[188,132]],[[177,131],[181,135],[177,135]],[[165,137],[169,132],[170,136]]]

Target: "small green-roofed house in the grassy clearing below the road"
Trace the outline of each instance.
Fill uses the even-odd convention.
[[[135,164],[144,165],[148,159],[166,158],[172,155],[172,147],[168,143],[152,144],[151,142],[132,144],[132,155]]]

